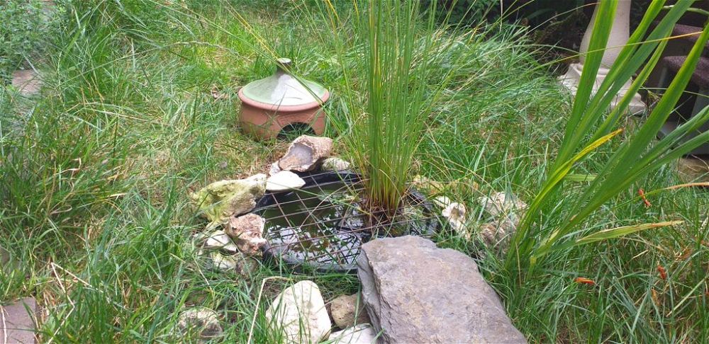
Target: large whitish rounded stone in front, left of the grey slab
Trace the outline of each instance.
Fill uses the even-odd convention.
[[[281,331],[286,343],[319,343],[332,327],[323,295],[311,281],[298,282],[278,294],[266,319],[274,331]]]

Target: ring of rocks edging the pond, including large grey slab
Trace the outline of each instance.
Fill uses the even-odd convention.
[[[248,212],[269,190],[302,187],[302,178],[290,171],[349,168],[347,161],[330,156],[332,147],[333,142],[327,137],[303,135],[291,144],[284,157],[272,164],[270,177],[257,174],[239,180],[220,180],[194,193],[192,199],[210,221],[206,228],[210,234],[196,234],[193,242],[199,246],[199,255],[210,261],[208,267],[244,275],[258,268],[258,260],[262,258],[260,248],[265,243],[264,219]],[[417,177],[414,185],[430,190],[440,183]],[[435,197],[434,202],[454,231],[472,239],[462,203],[447,197]],[[493,217],[492,222],[481,225],[479,237],[486,244],[503,247],[526,205],[508,193],[480,197],[479,202]],[[497,294],[479,274],[474,260],[464,253],[436,248],[432,241],[415,236],[376,239],[362,248],[364,255],[357,261],[361,296],[341,295],[328,307],[318,285],[308,280],[298,282],[284,289],[269,306],[266,316],[272,331],[280,331],[294,343],[322,340],[372,343],[377,339],[525,343],[524,336],[506,316]],[[401,250],[406,254],[387,253]],[[382,275],[384,271],[387,273]],[[390,282],[382,285],[373,280]],[[412,314],[420,317],[408,319]],[[341,331],[331,333],[330,317]],[[203,307],[183,310],[176,331],[193,326],[201,328],[206,339],[222,333],[218,314]]]

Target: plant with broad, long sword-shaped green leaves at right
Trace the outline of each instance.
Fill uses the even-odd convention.
[[[663,0],[652,1],[640,25],[632,33],[627,45],[623,47],[615,64],[610,68],[608,76],[605,77],[598,91],[593,93],[593,84],[601,67],[601,58],[608,42],[618,1],[603,1],[597,5],[599,8],[588,55],[574,105],[566,122],[564,139],[556,159],[547,172],[545,183],[532,200],[513,238],[512,249],[506,258],[508,271],[517,271],[524,279],[524,276],[530,275],[530,270],[539,265],[540,261],[552,251],[564,251],[586,243],[680,223],[670,220],[594,232],[583,229],[586,219],[598,211],[605,202],[627,190],[632,183],[651,171],[656,171],[709,140],[709,132],[696,134],[694,137],[688,136],[696,133],[696,130],[709,119],[707,108],[663,139],[655,140],[696,68],[703,47],[709,38],[709,26],[706,25],[685,63],[644,123],[637,128],[637,131],[626,133],[625,140],[610,153],[605,164],[593,173],[593,176],[589,176],[588,180],[592,180],[591,183],[581,188],[576,197],[566,198],[573,203],[571,211],[555,214],[554,222],[549,227],[535,230],[540,219],[549,217],[549,214],[554,212],[554,204],[557,203],[555,200],[562,197],[563,185],[571,180],[574,167],[593,154],[598,147],[610,140],[620,139],[618,134],[623,130],[618,128],[619,122],[626,113],[633,94],[640,89],[650,71],[657,65],[667,40],[671,38],[674,24],[688,11],[693,1],[680,1],[674,6],[667,7],[668,11],[664,17],[659,19],[657,25],[650,30],[651,23],[657,20],[662,12],[664,3]],[[632,82],[630,90],[608,113],[608,106],[618,91],[638,70],[640,74]]]

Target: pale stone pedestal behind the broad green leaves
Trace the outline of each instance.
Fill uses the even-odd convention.
[[[591,40],[591,33],[593,32],[593,22],[596,21],[596,15],[598,14],[598,6],[593,11],[593,16],[591,17],[591,23],[588,23],[588,28],[586,28],[586,33],[584,34],[584,39],[581,40],[580,47],[580,61],[579,63],[574,63],[569,65],[569,70],[566,74],[559,77],[559,81],[569,88],[572,93],[576,93],[576,88],[579,86],[579,80],[581,80],[581,71],[584,70],[584,62],[586,62],[586,52],[588,52],[588,42]],[[601,62],[601,68],[598,69],[598,74],[596,75],[596,84],[593,86],[593,90],[596,91],[598,86],[601,86],[603,79],[608,75],[608,71],[615,59],[618,58],[620,50],[623,49],[623,45],[627,43],[630,37],[630,0],[621,0],[618,3],[618,9],[615,11],[615,18],[613,18],[613,27],[610,29],[610,37],[608,38],[608,44],[606,47],[611,47],[605,50],[603,53],[603,59]],[[612,103],[611,107],[618,105],[620,98],[625,96],[625,93],[630,88],[630,81],[628,81],[623,88],[620,88],[618,92],[618,97],[616,97]],[[633,96],[630,105],[628,105],[628,111],[632,114],[642,113],[647,109],[647,106],[642,103],[639,94]]]

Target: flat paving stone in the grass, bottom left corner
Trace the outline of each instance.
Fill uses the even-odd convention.
[[[31,297],[0,306],[0,344],[35,343],[37,302]]]

